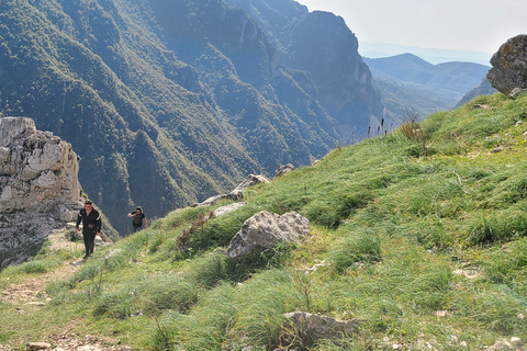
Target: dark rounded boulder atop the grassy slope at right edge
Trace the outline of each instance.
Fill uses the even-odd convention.
[[[491,58],[486,73],[491,86],[507,97],[515,90],[527,88],[527,35],[507,39]]]

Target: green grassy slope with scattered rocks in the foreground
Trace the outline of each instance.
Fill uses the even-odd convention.
[[[489,109],[471,110],[476,103]],[[0,344],[46,339],[77,320],[81,335],[138,349],[264,350],[279,343],[281,315],[292,310],[362,320],[359,336],[312,350],[367,350],[384,337],[417,350],[425,342],[474,350],[512,336],[527,341],[527,123],[516,126],[527,120],[526,104],[527,97],[495,94],[434,114],[423,124],[427,157],[400,131],[337,148],[247,190],[245,207],[197,226],[184,251],[177,252],[176,238],[211,208],[171,213],[48,284],[46,306],[24,307],[32,318],[0,302],[0,325],[10,326]],[[497,146],[504,150],[491,152]],[[216,248],[261,210],[307,216],[312,236],[227,261]],[[0,286],[40,279],[80,256],[44,251],[4,270]]]

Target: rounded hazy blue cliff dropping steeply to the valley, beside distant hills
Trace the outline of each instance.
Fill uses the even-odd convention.
[[[385,117],[381,95],[358,53],[358,41],[344,20],[314,11],[292,25],[287,64],[309,71],[321,104],[339,123],[345,139],[365,138]]]

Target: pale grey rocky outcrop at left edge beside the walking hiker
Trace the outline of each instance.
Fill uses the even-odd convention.
[[[0,118],[0,268],[34,254],[82,206],[71,145],[31,118]]]

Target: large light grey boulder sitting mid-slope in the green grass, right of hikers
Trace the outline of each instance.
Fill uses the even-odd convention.
[[[270,249],[278,244],[298,244],[309,234],[310,220],[295,212],[280,216],[261,211],[247,219],[233,237],[227,257],[238,258],[255,249]]]

